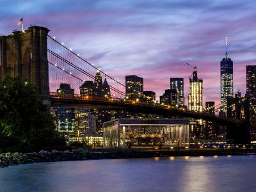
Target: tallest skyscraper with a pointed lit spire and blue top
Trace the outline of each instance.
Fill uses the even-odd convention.
[[[233,61],[228,58],[227,36],[226,54],[220,61],[220,82],[221,82],[221,108],[227,113],[227,98],[233,97]]]

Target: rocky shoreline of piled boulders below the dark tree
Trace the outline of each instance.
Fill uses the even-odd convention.
[[[15,164],[54,162],[54,161],[77,161],[90,159],[121,159],[141,157],[139,152],[88,152],[84,149],[48,152],[41,150],[33,153],[11,153],[0,154],[0,167],[6,167]]]

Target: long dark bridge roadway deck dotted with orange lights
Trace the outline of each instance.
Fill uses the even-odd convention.
[[[136,102],[134,100],[123,100],[118,98],[88,97],[80,95],[60,95],[50,93],[52,107],[74,107],[74,108],[104,108],[104,109],[123,109],[134,113],[150,113],[155,115],[170,115],[186,118],[195,118],[217,122],[222,125],[242,125],[244,121],[233,118],[221,118],[205,112],[194,112],[185,109],[161,106],[160,104],[150,104]]]

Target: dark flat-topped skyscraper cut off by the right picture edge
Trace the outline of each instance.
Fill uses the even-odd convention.
[[[256,65],[246,66],[246,97],[250,100],[250,120],[256,123]]]

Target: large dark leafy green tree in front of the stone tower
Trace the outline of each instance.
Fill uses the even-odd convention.
[[[0,84],[0,148],[42,150],[65,145],[35,87],[20,77]]]

